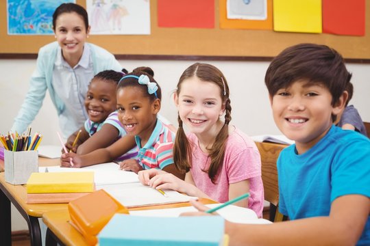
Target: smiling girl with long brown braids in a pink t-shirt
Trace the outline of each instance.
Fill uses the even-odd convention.
[[[193,64],[177,84],[175,105],[179,128],[173,146],[175,165],[185,180],[155,169],[139,172],[140,182],[156,189],[226,202],[243,193],[236,205],[262,216],[263,186],[260,154],[254,141],[230,125],[229,87],[222,72],[210,64]],[[221,115],[225,114],[225,120]],[[183,124],[189,133],[184,133]]]

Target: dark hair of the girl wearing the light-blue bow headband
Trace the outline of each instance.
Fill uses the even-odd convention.
[[[127,75],[134,75],[134,76],[140,77],[140,75],[143,75],[143,74],[149,77],[150,82],[155,82],[157,84],[158,90],[156,91],[156,94],[154,93],[149,94],[147,85],[141,85],[140,83],[138,83],[138,79],[133,78],[133,77],[125,78]],[[144,67],[144,66],[135,68],[132,72],[125,74],[123,76],[124,79],[122,78],[121,81],[119,82],[117,90],[119,90],[120,88],[124,88],[124,87],[139,87],[143,91],[143,94],[149,97],[151,101],[156,100],[156,98],[161,100],[162,92],[160,90],[160,85],[158,85],[157,81],[153,79],[153,77],[154,77],[154,72],[151,68]]]

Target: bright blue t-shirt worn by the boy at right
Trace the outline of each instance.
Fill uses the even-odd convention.
[[[295,144],[282,150],[277,175],[280,213],[290,219],[328,216],[337,197],[370,197],[370,140],[332,126],[304,154],[295,152]],[[370,245],[370,217],[358,245]]]

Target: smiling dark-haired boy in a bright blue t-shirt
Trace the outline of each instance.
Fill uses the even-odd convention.
[[[265,77],[273,118],[295,140],[277,161],[279,210],[291,221],[226,221],[230,245],[370,245],[370,141],[333,125],[350,77],[328,46],[298,44],[273,59]]]

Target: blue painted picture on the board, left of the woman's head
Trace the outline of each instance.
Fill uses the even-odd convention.
[[[74,0],[8,0],[8,35],[51,35],[53,13],[62,3]]]

